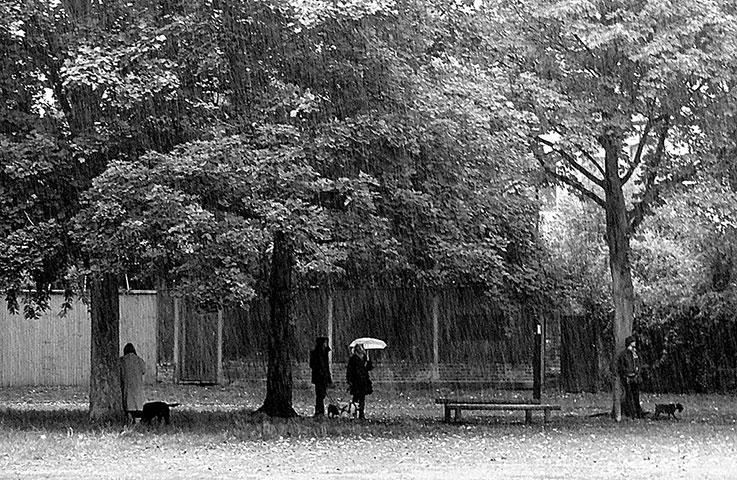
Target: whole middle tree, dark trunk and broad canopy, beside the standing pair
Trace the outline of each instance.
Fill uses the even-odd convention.
[[[540,289],[525,131],[501,71],[483,67],[489,46],[468,47],[486,19],[443,2],[303,7],[195,9],[227,121],[112,164],[79,217],[110,268],[167,271],[204,303],[269,296],[262,410],[276,416],[294,414],[295,274],[466,283],[517,301]]]

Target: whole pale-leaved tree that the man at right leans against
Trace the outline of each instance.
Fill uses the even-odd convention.
[[[718,1],[503,3],[532,150],[551,178],[605,212],[616,355],[632,332],[632,235],[708,155],[698,125],[720,118],[731,95],[734,18]],[[613,391],[619,420],[618,381]]]

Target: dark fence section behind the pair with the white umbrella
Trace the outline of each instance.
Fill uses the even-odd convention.
[[[223,313],[223,375],[227,381],[265,379],[268,301]],[[293,305],[293,370],[297,384],[310,381],[309,352],[327,336],[334,380],[344,378],[348,344],[378,337],[386,350],[373,352],[380,368],[372,377],[387,383],[469,383],[532,388],[533,340],[545,332],[545,374],[560,372],[558,315],[520,306],[502,310],[472,289],[301,290]]]

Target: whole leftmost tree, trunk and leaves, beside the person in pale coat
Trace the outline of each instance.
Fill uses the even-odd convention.
[[[117,271],[79,248],[69,232],[79,197],[111,159],[166,150],[196,130],[192,89],[163,49],[165,6],[74,1],[4,2],[0,287],[25,314],[48,306],[51,286],[71,295],[88,276],[92,317],[90,415],[120,417]],[[187,77],[190,78],[190,77]],[[176,114],[176,115],[174,115]],[[76,269],[73,267],[77,267]],[[115,296],[116,298],[112,298]]]

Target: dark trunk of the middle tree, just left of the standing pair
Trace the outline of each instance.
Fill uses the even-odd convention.
[[[271,257],[271,315],[269,318],[266,400],[258,412],[270,417],[296,417],[292,407],[292,268],[294,249],[284,232],[274,234]]]

